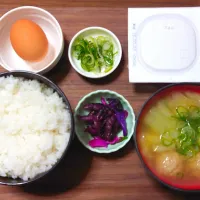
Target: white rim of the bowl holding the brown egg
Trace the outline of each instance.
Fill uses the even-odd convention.
[[[0,17],[0,22],[1,20],[5,19],[8,15],[10,15],[11,13],[15,12],[15,11],[18,11],[18,10],[26,10],[26,9],[33,9],[33,10],[39,10],[39,11],[42,11],[44,13],[46,13],[47,15],[49,15],[53,20],[54,22],[56,23],[56,26],[58,28],[58,31],[59,33],[61,34],[61,46],[60,46],[60,50],[59,52],[57,53],[57,55],[54,57],[54,59],[48,63],[48,65],[46,65],[45,67],[43,67],[42,69],[40,70],[37,70],[37,71],[34,71],[34,73],[40,73],[42,74],[43,72],[47,71],[48,68],[52,69],[53,68],[53,64],[55,63],[55,65],[57,64],[58,60],[60,60],[61,58],[61,55],[62,55],[62,52],[64,50],[64,35],[63,35],[63,32],[62,32],[62,29],[61,29],[61,26],[60,24],[58,23],[58,20],[50,13],[48,12],[47,10],[43,9],[43,8],[40,8],[40,7],[37,7],[37,6],[20,6],[20,7],[16,7],[16,8],[13,8],[11,10],[9,10],[8,12],[4,13],[1,17]],[[0,63],[0,65],[5,68],[6,70],[8,71],[15,71],[16,69],[14,70],[10,70],[9,68],[7,68],[7,66],[4,66],[2,63]],[[54,65],[54,66],[55,66]],[[49,69],[49,70],[50,70]],[[48,70],[48,71],[49,71]],[[30,70],[31,71],[31,70]],[[33,71],[31,71],[33,72]]]

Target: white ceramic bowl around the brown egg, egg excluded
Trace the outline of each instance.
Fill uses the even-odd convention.
[[[10,42],[10,28],[19,19],[28,19],[37,23],[46,34],[49,49],[39,62],[27,62],[20,58]],[[51,70],[60,60],[64,49],[61,27],[55,17],[44,9],[22,6],[10,10],[0,18],[0,65],[8,71],[26,70],[43,74]],[[38,70],[39,69],[39,70]]]

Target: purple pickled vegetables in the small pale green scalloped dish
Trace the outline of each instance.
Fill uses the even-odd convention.
[[[95,147],[107,147],[108,144],[116,144],[127,138],[126,118],[128,112],[123,109],[119,99],[101,97],[101,103],[89,103],[84,106],[89,111],[86,116],[79,116],[85,121],[85,132],[90,133],[94,139],[89,145]],[[117,137],[122,130],[124,137]]]

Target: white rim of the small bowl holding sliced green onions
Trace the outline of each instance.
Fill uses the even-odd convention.
[[[88,30],[102,30],[102,31],[105,31],[106,33],[108,33],[109,35],[111,35],[111,37],[116,41],[117,43],[117,46],[118,46],[118,52],[119,52],[119,59],[118,59],[118,62],[113,66],[112,70],[110,70],[108,73],[105,73],[105,74],[102,74],[102,75],[99,75],[99,76],[93,76],[92,74],[91,75],[87,75],[86,73],[80,71],[76,65],[74,64],[74,62],[72,61],[72,56],[71,56],[71,50],[72,50],[72,45],[74,43],[74,41],[76,40],[76,38],[82,34],[83,32],[85,31],[88,31]],[[121,46],[121,43],[118,39],[118,37],[110,30],[106,29],[106,28],[103,28],[103,27],[100,27],[100,26],[90,26],[90,27],[87,27],[87,28],[84,28],[82,30],[80,30],[78,33],[76,33],[74,35],[74,37],[72,38],[70,44],[69,44],[69,49],[68,49],[68,58],[69,58],[69,61],[72,65],[72,67],[79,73],[81,74],[82,76],[85,76],[87,78],[94,78],[94,79],[98,79],[98,78],[103,78],[105,76],[108,76],[109,74],[111,74],[120,64],[120,61],[121,61],[121,58],[122,58],[122,46]]]

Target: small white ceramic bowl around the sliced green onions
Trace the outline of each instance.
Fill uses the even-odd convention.
[[[107,73],[101,73],[101,74],[95,74],[94,72],[87,72],[84,69],[82,69],[80,61],[77,60],[73,55],[72,55],[72,47],[74,42],[76,41],[77,38],[79,37],[87,37],[87,36],[109,36],[110,38],[112,38],[112,42],[114,43],[114,51],[117,51],[118,53],[115,55],[115,59],[114,59],[114,65],[112,70],[110,70]],[[111,31],[109,31],[108,29],[102,28],[102,27],[88,27],[85,28],[81,31],[79,31],[71,40],[70,44],[69,44],[69,49],[68,49],[68,57],[69,57],[69,61],[72,65],[72,67],[81,75],[88,77],[88,78],[102,78],[105,77],[109,74],[111,74],[119,65],[120,61],[121,61],[121,57],[122,57],[122,47],[120,44],[119,39],[117,38],[117,36],[112,33]]]

